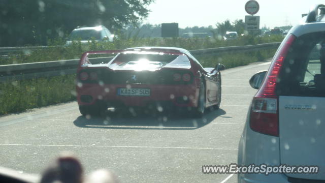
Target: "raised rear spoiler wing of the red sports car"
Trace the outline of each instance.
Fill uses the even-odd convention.
[[[174,55],[185,55],[182,52],[171,52],[171,51],[157,51],[157,50],[103,50],[103,51],[87,51],[84,52],[79,60],[78,68],[81,68],[85,65],[91,64],[88,55],[94,54],[117,54],[117,53],[138,53],[138,54],[174,54]],[[107,58],[107,57],[104,57]]]

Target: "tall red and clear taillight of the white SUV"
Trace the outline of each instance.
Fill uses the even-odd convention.
[[[279,136],[278,96],[276,82],[283,60],[296,37],[288,35],[275,53],[272,64],[265,76],[264,82],[253,98],[250,111],[250,128],[256,132]]]

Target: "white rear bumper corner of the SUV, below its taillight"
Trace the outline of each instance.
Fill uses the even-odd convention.
[[[249,127],[249,112],[244,127],[243,135],[238,147],[238,165],[280,165],[279,137],[264,135],[252,131]],[[238,174],[238,183],[259,183],[259,182],[288,182],[287,176],[278,174]]]

